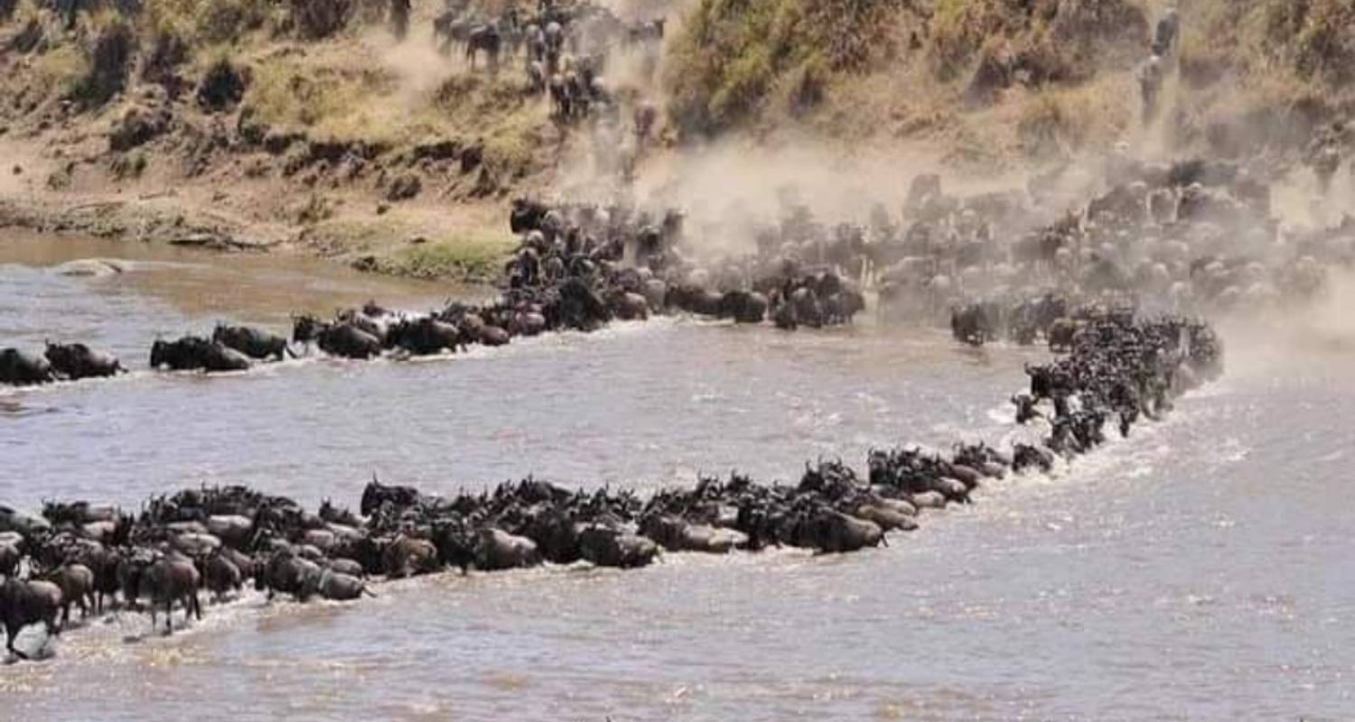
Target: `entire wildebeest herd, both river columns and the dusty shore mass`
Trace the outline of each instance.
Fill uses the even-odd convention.
[[[948,318],[959,341],[1046,343],[1056,355],[1026,367],[1028,390],[1011,401],[1031,433],[1009,448],[901,446],[873,451],[863,471],[818,459],[795,484],[736,473],[641,497],[528,478],[439,497],[373,480],[355,512],[329,503],[310,512],[237,486],[186,489],[136,513],[84,501],[47,503],[41,515],[0,508],[9,649],[20,653],[12,642],[26,624],[57,631],[70,606],[98,612],[117,600],[164,614],[168,629],[176,606],[201,615],[202,591],[229,596],[247,581],[270,595],[344,600],[370,593],[374,577],[446,568],[638,568],[661,550],[878,546],[888,532],[915,528],[923,509],[967,501],[985,480],[1049,470],[1102,444],[1107,425],[1129,435],[1142,417],[1167,412],[1221,368],[1218,339],[1192,314],[1310,297],[1325,267],[1352,260],[1351,224],[1282,233],[1264,184],[1243,169],[1126,161],[1114,173],[1129,180],[1051,222],[1034,222],[1049,179],[1019,198],[962,198],[920,176],[906,229],[886,213],[827,229],[787,203],[778,225],[755,233],[756,252],[720,259],[699,252],[691,237],[699,233],[680,213],[524,199],[509,218],[522,242],[491,303],[421,314],[369,303],[331,318],[299,316],[290,339],[222,325],[211,337],[157,340],[153,367],[213,373],[316,349],[352,359],[446,354],[653,313],[821,328],[851,322],[871,287],[882,322],[901,312]],[[8,383],[121,370],[79,344],[49,345],[46,358],[3,354]]]

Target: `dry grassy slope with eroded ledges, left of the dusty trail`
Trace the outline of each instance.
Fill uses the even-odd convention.
[[[31,0],[4,9],[0,129],[23,165],[42,169],[30,191],[45,200],[173,195],[186,214],[366,268],[488,278],[512,242],[505,198],[541,183],[564,144],[519,72],[472,76],[427,37],[392,42],[360,9],[322,41],[268,0],[149,0],[136,16],[100,11],[70,30]],[[416,16],[415,28],[430,23]],[[110,65],[95,58],[115,34],[125,60],[92,72]],[[198,88],[222,60],[245,88],[209,110]],[[129,112],[161,110],[164,133],[111,148]],[[324,152],[336,148],[347,157]],[[421,192],[388,200],[401,176]]]

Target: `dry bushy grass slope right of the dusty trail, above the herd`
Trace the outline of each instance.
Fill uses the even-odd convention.
[[[669,106],[688,135],[793,127],[851,144],[920,140],[980,164],[1149,135],[1171,152],[1283,152],[1348,115],[1350,0],[1194,0],[1183,3],[1175,110],[1163,127],[1138,127],[1133,69],[1165,5],[696,0],[668,61]],[[985,72],[1001,80],[976,81]]]

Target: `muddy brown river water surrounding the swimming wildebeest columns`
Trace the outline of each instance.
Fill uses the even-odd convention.
[[[83,257],[125,271],[53,271]],[[416,363],[145,371],[156,335],[466,291],[0,232],[0,345],[83,340],[136,370],[0,391],[0,503],[136,507],[199,481],[355,503],[373,473],[446,493],[528,473],[795,478],[873,446],[1000,442],[1001,400],[1041,358],[869,322],[665,318]],[[247,596],[172,638],[127,615],[0,668],[0,719],[1348,719],[1355,364],[1348,345],[1301,366],[1274,345],[1230,339],[1228,375],[1167,421],[888,549],[446,574],[346,606]]]

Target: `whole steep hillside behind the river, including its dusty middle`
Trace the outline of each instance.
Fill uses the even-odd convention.
[[[854,188],[1111,149],[1283,173],[1344,152],[1355,108],[1351,0],[1183,0],[1150,115],[1137,69],[1171,0],[561,1],[608,33],[561,65],[608,56],[606,112],[583,118],[531,88],[520,54],[491,73],[440,53],[428,4],[397,41],[383,0],[37,3],[0,0],[0,225],[427,276],[493,276],[519,194],[747,206],[733,183],[770,196],[852,156],[873,163]],[[683,187],[669,171],[692,163]]]

